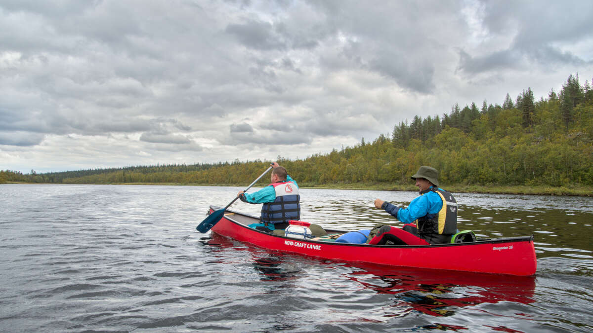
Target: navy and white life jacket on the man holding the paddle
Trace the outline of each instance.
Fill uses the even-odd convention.
[[[301,196],[294,182],[284,181],[270,184],[276,192],[276,200],[262,205],[260,220],[264,223],[288,223],[301,219]]]

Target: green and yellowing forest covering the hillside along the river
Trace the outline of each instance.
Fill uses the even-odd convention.
[[[458,104],[442,116],[415,116],[395,124],[391,135],[305,159],[278,156],[305,187],[409,188],[420,165],[439,170],[439,182],[455,185],[581,187],[593,185],[593,89],[578,75],[562,89],[534,100],[531,88],[502,105]],[[60,184],[245,185],[270,161],[154,165],[30,174],[0,171],[2,182]],[[267,179],[264,177],[263,179]],[[260,181],[264,184],[266,181]],[[377,187],[378,185],[378,187]],[[591,191],[588,191],[591,192]]]

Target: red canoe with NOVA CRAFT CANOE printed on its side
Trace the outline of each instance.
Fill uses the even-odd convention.
[[[210,207],[210,213],[219,207]],[[212,232],[237,241],[282,252],[334,261],[431,268],[436,270],[531,276],[537,262],[533,236],[478,239],[477,242],[437,245],[369,245],[294,239],[249,228],[259,217],[227,210]],[[325,229],[329,234],[345,230]]]

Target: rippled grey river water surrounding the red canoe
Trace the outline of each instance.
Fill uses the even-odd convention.
[[[242,189],[0,185],[0,331],[593,331],[593,198],[455,194],[460,229],[535,236],[537,273],[518,278],[317,260],[196,231]],[[347,230],[400,225],[373,200],[417,195],[301,194],[302,220]]]

